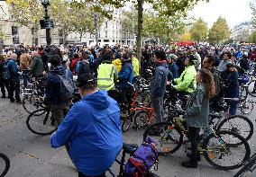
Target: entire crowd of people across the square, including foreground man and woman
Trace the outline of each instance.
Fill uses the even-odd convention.
[[[183,107],[188,105],[184,117],[192,154],[182,165],[197,168],[199,130],[208,125],[208,115],[216,101],[223,97],[238,98],[239,75],[250,69],[256,49],[145,46],[141,58],[140,64],[136,49],[118,44],[103,49],[5,48],[0,56],[2,98],[22,103],[21,83],[26,88],[31,77],[47,77],[44,102],[50,105],[54,123],[59,126],[51,136],[51,146],[69,146],[69,156],[79,176],[105,176],[123,145],[120,102],[113,99],[115,91],[120,92],[121,102],[129,106],[128,95],[133,92],[134,80],[138,76],[149,79],[150,73],[151,107],[156,122],[163,121],[163,98],[169,86],[177,91]],[[69,109],[70,99],[63,99],[63,85],[74,79],[81,100]],[[190,102],[186,103],[185,95],[192,95]],[[235,115],[237,102],[228,104],[229,114]],[[151,132],[157,133],[158,130]]]

